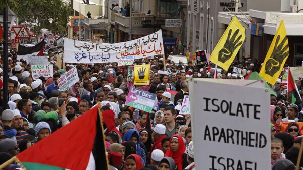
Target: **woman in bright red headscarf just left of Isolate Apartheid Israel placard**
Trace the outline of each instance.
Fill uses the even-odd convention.
[[[182,170],[186,166],[188,166],[188,162],[186,160],[186,150],[183,139],[180,135],[173,135],[169,141],[169,149],[165,153],[165,157],[171,157],[174,159],[177,169]]]

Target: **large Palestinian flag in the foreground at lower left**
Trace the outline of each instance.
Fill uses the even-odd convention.
[[[18,154],[18,161],[27,170],[107,170],[98,107],[88,110],[78,119]]]

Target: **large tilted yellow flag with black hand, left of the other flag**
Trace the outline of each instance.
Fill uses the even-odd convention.
[[[210,61],[222,67],[224,70],[228,70],[243,44],[245,37],[245,28],[238,21],[237,17],[233,17],[213,50]]]

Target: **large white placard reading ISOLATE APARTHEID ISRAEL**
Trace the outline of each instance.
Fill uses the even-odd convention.
[[[270,169],[269,90],[240,81],[189,81],[196,169]]]

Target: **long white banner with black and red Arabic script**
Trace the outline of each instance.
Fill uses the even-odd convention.
[[[112,63],[120,56],[134,56],[134,59],[164,54],[162,31],[115,44],[96,44],[72,39],[64,40],[65,63]]]

